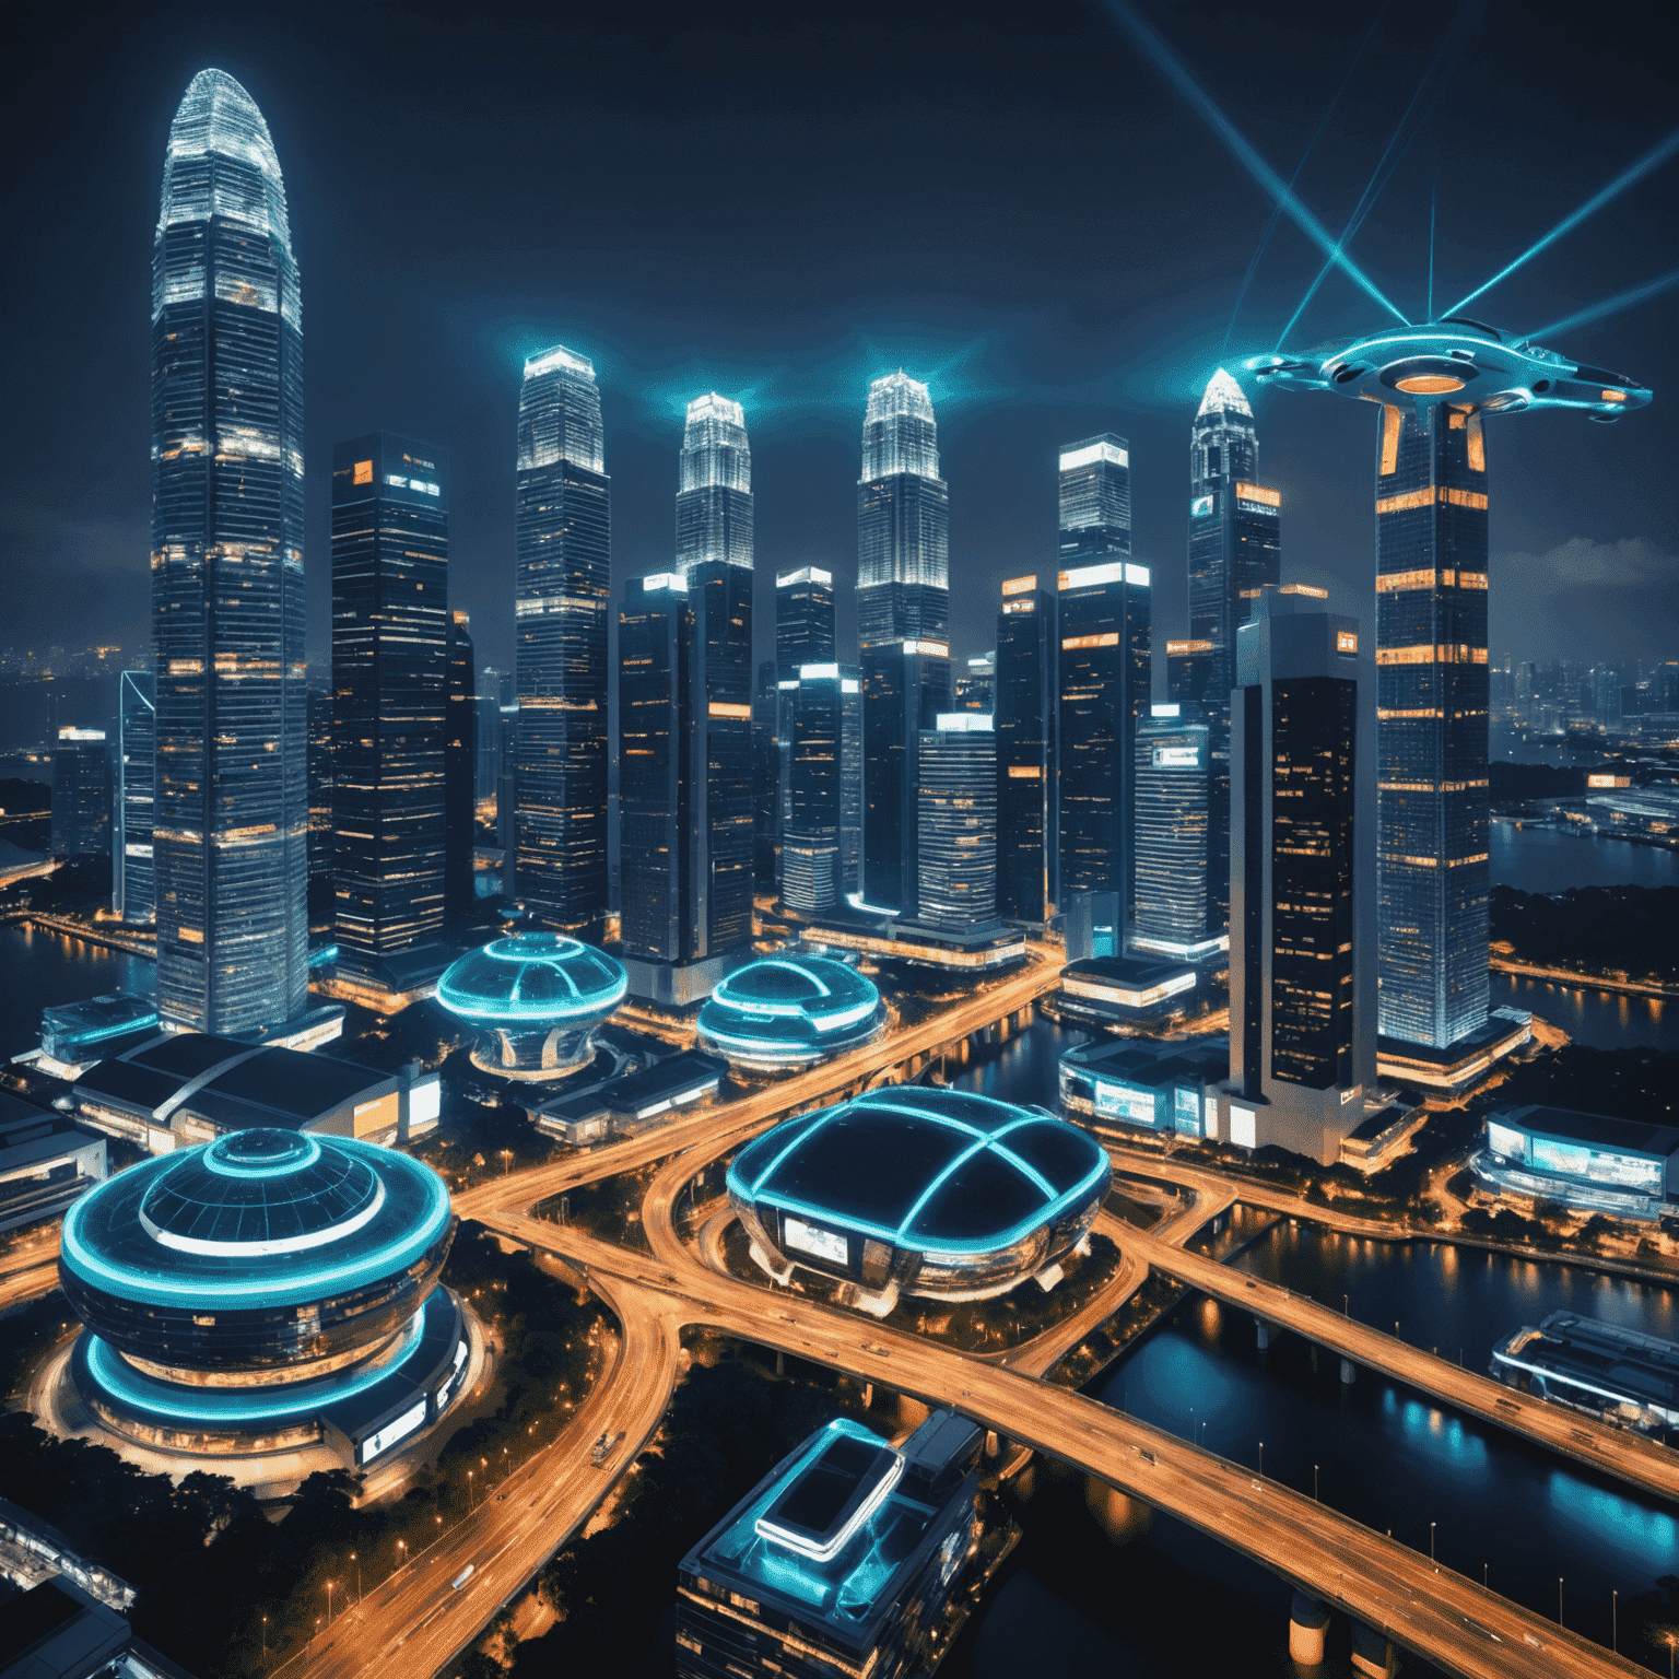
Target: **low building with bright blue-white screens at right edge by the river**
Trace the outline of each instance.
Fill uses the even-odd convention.
[[[1488,1117],[1486,1148],[1471,1167],[1496,1194],[1657,1219],[1679,1200],[1679,1128],[1572,1108],[1509,1108]]]

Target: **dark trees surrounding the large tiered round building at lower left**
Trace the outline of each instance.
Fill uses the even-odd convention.
[[[477,1224],[455,1239],[443,1281],[500,1342],[500,1397],[455,1429],[401,1499],[354,1509],[354,1481],[332,1471],[304,1481],[284,1519],[270,1521],[225,1476],[195,1472],[175,1486],[106,1446],[54,1439],[25,1414],[0,1417],[0,1496],[136,1587],[134,1630],[149,1644],[205,1679],[255,1679],[312,1635],[327,1580],[336,1608],[354,1597],[358,1563],[371,1590],[400,1565],[398,1541],[411,1556],[462,1519],[487,1481],[557,1437],[588,1387],[598,1357],[589,1331],[604,1321],[593,1298],[579,1301],[526,1253],[504,1254]],[[13,1382],[64,1318],[54,1295],[7,1320]]]

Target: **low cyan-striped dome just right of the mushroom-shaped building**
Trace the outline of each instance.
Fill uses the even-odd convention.
[[[887,1023],[866,975],[824,955],[771,955],[735,969],[700,1007],[702,1049],[752,1073],[814,1066],[878,1038]]]

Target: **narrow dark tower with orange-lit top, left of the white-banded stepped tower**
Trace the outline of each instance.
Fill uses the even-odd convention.
[[[1061,870],[1054,603],[1036,576],[1009,578],[997,613],[997,913],[1039,927],[1054,915]]]

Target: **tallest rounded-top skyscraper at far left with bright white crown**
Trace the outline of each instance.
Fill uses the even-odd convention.
[[[254,1033],[309,989],[302,304],[269,124],[222,71],[170,126],[151,416],[158,1012]]]

